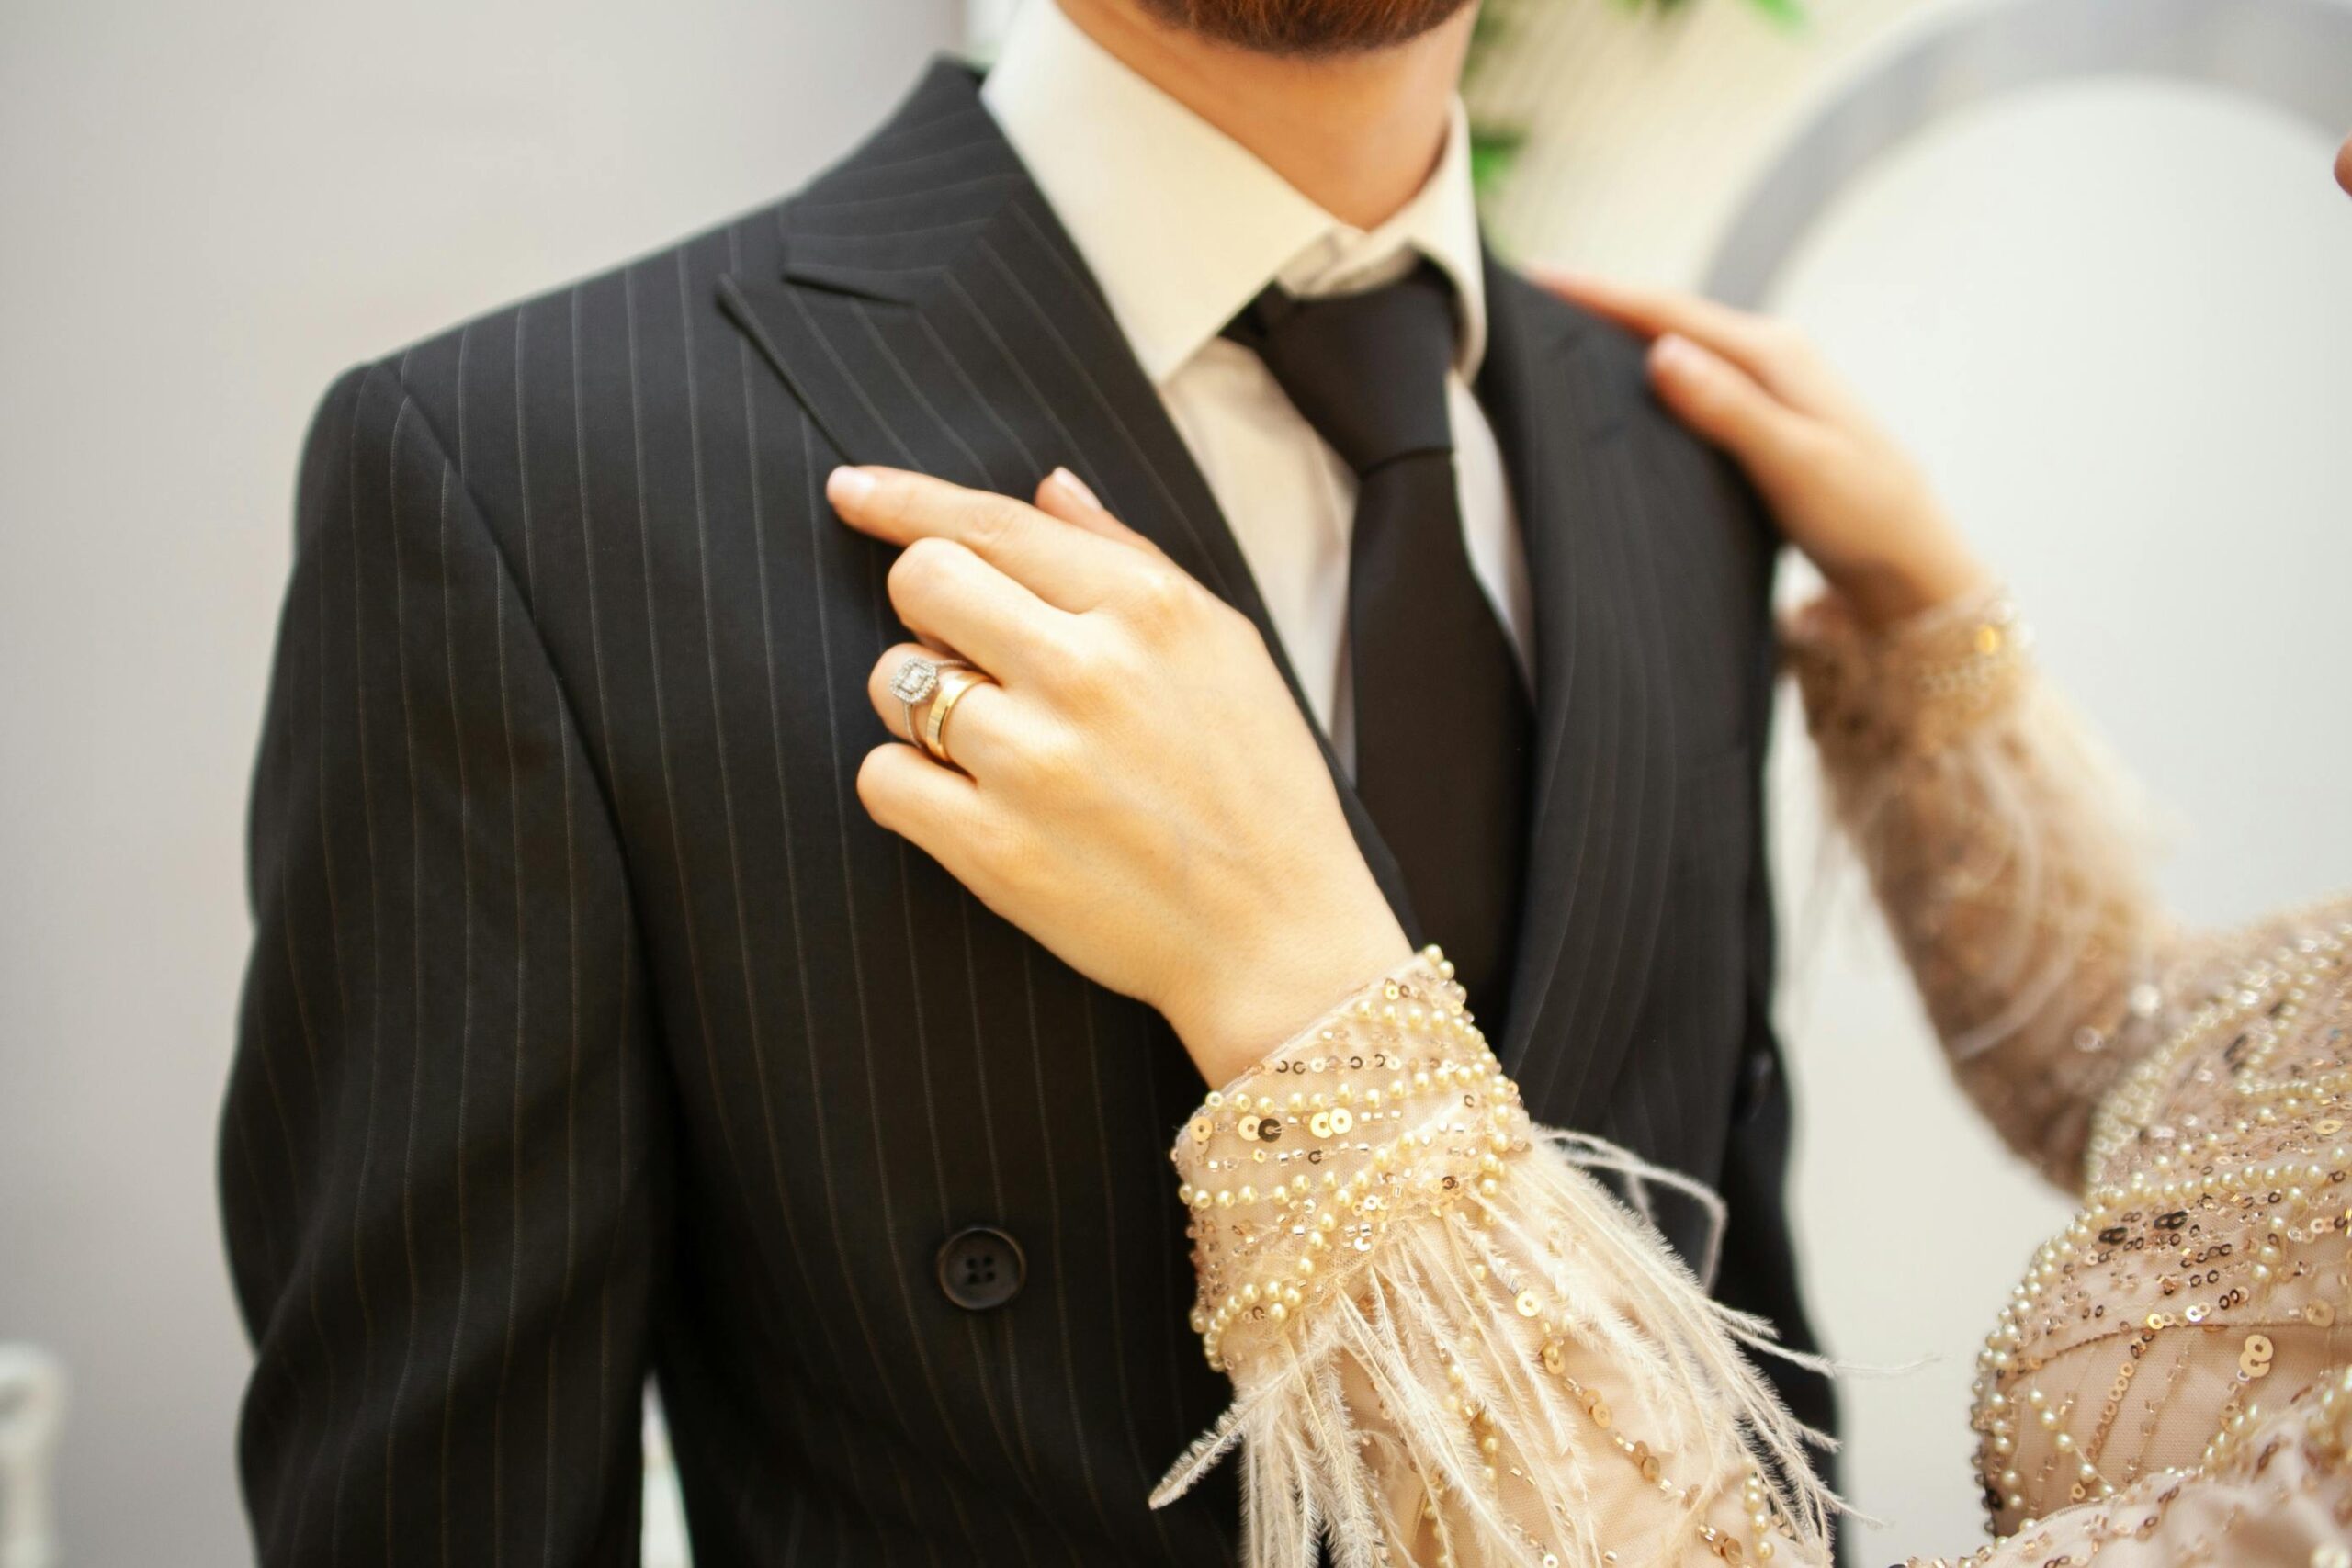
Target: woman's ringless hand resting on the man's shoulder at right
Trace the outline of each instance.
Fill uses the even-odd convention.
[[[1543,282],[1651,341],[1658,400],[1748,470],[1780,531],[1865,623],[1990,583],[1919,465],[1795,327],[1668,289],[1571,273]]]

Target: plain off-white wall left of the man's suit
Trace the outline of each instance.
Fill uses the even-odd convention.
[[[247,1561],[212,1138],[296,442],[341,367],[762,202],[953,0],[0,7],[0,1340],[68,1563]]]

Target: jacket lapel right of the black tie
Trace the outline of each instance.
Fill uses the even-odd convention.
[[[1635,1044],[1670,879],[1672,651],[1632,494],[1642,395],[1590,317],[1486,263],[1496,425],[1536,599],[1536,780],[1505,1070],[1555,1126],[1602,1126]]]

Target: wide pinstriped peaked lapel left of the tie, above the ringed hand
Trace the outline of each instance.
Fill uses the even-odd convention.
[[[1216,496],[971,71],[931,66],[779,221],[783,275],[722,277],[720,303],[844,461],[1023,498],[1068,465],[1251,618],[1310,712]],[[1315,733],[1374,877],[1425,940],[1395,856]]]

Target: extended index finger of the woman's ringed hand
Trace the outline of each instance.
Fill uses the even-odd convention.
[[[826,498],[861,534],[894,545],[953,541],[1065,611],[1094,609],[1115,595],[1134,562],[1134,552],[1101,529],[901,468],[835,468]]]

